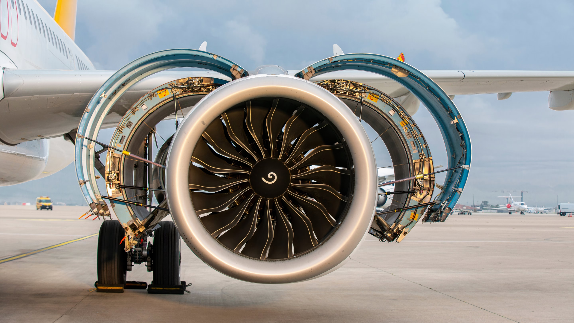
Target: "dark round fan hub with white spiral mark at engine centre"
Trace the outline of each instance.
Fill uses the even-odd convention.
[[[279,198],[289,189],[291,175],[285,163],[276,158],[259,160],[251,169],[249,183],[262,198]]]

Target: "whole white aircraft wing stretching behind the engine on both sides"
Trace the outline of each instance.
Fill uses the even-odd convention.
[[[0,141],[18,144],[27,140],[56,137],[77,128],[80,117],[95,91],[115,71],[15,70],[2,71],[0,93]],[[297,71],[288,71],[294,75]],[[569,71],[464,71],[424,70],[449,95],[553,91],[550,107],[574,109],[574,72]],[[229,79],[211,71],[164,71],[135,84],[114,105],[103,128],[113,127],[142,95],[171,80],[189,76]],[[398,98],[414,114],[418,100],[394,80],[365,71],[337,71],[312,78],[348,79],[368,84]],[[412,97],[412,98],[409,98]],[[506,97],[505,97],[506,98]],[[552,103],[553,102],[553,103]]]

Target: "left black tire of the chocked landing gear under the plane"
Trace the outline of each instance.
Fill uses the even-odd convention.
[[[118,220],[102,222],[98,236],[98,284],[126,283],[127,254],[124,244],[120,244],[125,234]]]

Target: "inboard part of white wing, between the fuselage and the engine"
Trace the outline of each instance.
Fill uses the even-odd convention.
[[[61,136],[77,128],[90,99],[115,71],[3,70],[0,141]],[[164,71],[135,84],[110,110],[102,128],[114,127],[127,109],[150,90],[174,79],[205,76],[230,80],[208,71]]]

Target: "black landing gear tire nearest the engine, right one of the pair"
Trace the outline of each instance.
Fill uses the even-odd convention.
[[[153,282],[156,285],[180,285],[180,234],[172,221],[162,221],[153,237]]]

